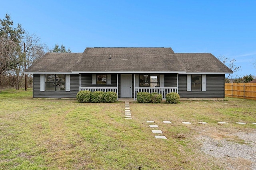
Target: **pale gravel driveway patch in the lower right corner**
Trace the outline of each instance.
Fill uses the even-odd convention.
[[[201,134],[202,151],[228,170],[256,170],[256,131]]]

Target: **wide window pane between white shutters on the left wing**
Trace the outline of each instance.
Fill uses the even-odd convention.
[[[66,91],[66,74],[45,74],[45,91]]]

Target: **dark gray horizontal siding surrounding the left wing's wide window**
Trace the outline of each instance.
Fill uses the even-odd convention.
[[[79,74],[70,74],[70,91],[40,91],[40,74],[33,74],[33,98],[75,98],[79,91]]]

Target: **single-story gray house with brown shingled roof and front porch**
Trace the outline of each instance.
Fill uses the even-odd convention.
[[[75,98],[80,90],[138,92],[181,98],[224,98],[225,74],[210,53],[174,53],[171,48],[86,48],[84,53],[46,53],[26,70],[33,98]]]

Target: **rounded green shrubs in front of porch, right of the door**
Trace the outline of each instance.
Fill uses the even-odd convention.
[[[137,102],[139,103],[160,103],[162,102],[162,94],[158,93],[148,93],[148,92],[138,92]],[[180,102],[180,95],[172,92],[166,94],[166,103],[176,104]]]

